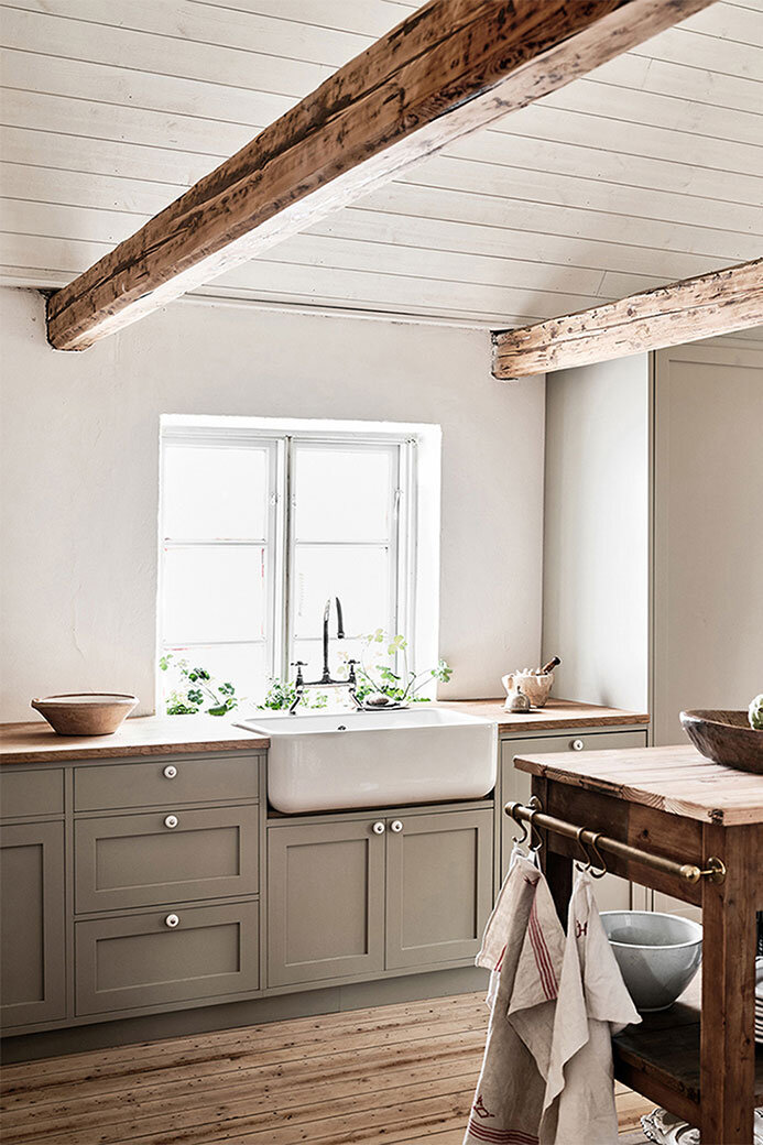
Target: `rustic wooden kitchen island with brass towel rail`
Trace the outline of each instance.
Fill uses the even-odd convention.
[[[750,1145],[763,1104],[763,1047],[754,1039],[756,910],[763,909],[763,775],[721,767],[691,747],[521,756],[543,815],[648,855],[721,860],[723,881],[607,853],[607,869],[702,909],[701,1009],[645,1014],[613,1040],[615,1077],[699,1126],[705,1145]],[[544,829],[544,862],[563,921],[576,839]]]

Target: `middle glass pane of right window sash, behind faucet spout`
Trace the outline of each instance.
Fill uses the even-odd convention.
[[[392,623],[388,550],[385,545],[297,545],[293,593],[296,639],[321,635],[329,598],[330,631],[336,633],[335,597],[341,600],[348,637],[386,629]]]

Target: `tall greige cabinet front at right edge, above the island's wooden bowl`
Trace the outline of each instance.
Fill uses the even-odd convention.
[[[656,354],[656,744],[686,742],[684,709],[744,709],[763,692],[763,350],[755,345],[731,335]]]

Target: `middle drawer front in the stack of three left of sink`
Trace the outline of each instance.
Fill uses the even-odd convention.
[[[258,838],[257,804],[79,819],[76,910],[255,894]]]

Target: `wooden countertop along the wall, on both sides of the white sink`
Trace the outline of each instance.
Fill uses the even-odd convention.
[[[538,732],[554,728],[616,727],[647,724],[645,712],[580,704],[573,700],[549,700],[545,708],[525,716],[503,710],[502,700],[463,700],[438,706],[485,716],[498,724],[501,733]],[[0,764],[54,763],[66,759],[168,756],[186,751],[261,750],[269,740],[255,736],[215,716],[139,716],[126,719],[113,735],[56,735],[45,720],[0,725]]]

